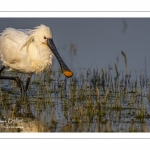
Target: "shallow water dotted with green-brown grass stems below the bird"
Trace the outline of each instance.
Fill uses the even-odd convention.
[[[27,78],[4,74],[18,75],[24,84]],[[67,79],[60,71],[45,71],[32,77],[27,98],[14,81],[0,80],[0,131],[149,132],[149,79],[115,77],[90,70]]]

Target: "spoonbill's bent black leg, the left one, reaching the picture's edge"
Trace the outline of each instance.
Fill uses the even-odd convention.
[[[22,81],[19,79],[19,77],[9,77],[9,76],[2,76],[1,73],[2,71],[5,69],[5,66],[3,66],[1,69],[0,69],[0,79],[8,79],[8,80],[14,80],[17,82],[17,85],[19,86],[20,88],[20,91],[21,91],[21,94],[22,94],[22,91],[24,91],[24,93],[26,94],[26,90],[24,89],[24,86],[23,86],[23,83]]]

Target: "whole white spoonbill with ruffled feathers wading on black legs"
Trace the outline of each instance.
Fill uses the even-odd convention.
[[[33,30],[6,28],[0,34],[0,59],[3,65],[0,69],[0,79],[15,80],[21,93],[22,90],[26,92],[32,74],[40,73],[52,65],[53,54],[58,59],[63,74],[71,77],[73,73],[61,59],[49,27],[40,25]],[[25,88],[19,77],[1,75],[5,67],[28,74]]]

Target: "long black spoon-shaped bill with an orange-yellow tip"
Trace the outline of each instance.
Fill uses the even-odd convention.
[[[64,61],[62,60],[62,58],[60,57],[55,44],[53,42],[53,39],[47,39],[47,45],[49,46],[49,48],[51,49],[51,51],[54,53],[54,55],[56,56],[56,58],[58,59],[58,62],[61,66],[61,70],[62,73],[66,76],[66,77],[72,77],[73,72],[67,67],[67,65],[64,63]]]

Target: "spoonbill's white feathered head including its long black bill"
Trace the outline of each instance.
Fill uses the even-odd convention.
[[[64,63],[64,61],[60,57],[55,47],[55,44],[53,42],[52,32],[50,28],[45,25],[40,25],[36,27],[35,30],[33,30],[33,35],[34,35],[34,38],[38,39],[40,43],[47,45],[50,48],[50,50],[53,52],[53,54],[56,56],[56,58],[59,61],[59,64],[62,69],[62,73],[66,77],[71,77],[73,75],[73,72],[67,67],[67,65]]]

